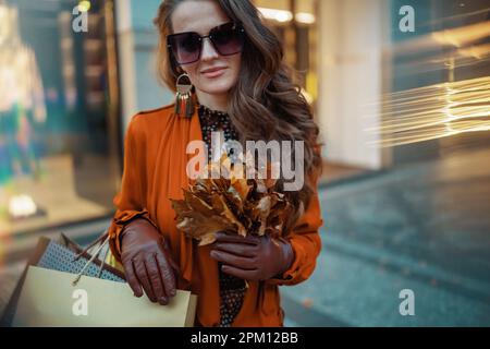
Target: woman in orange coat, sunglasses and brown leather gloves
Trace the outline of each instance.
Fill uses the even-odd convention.
[[[180,87],[175,105],[130,123],[111,249],[136,297],[145,292],[168,304],[175,289],[197,294],[197,326],[282,326],[278,286],[307,279],[321,248],[315,189],[321,160],[311,111],[250,1],[166,0],[156,24],[161,77]],[[186,146],[209,144],[211,131],[240,142],[305,142],[309,180],[287,193],[295,215],[286,238],[218,233],[216,243],[197,246],[177,230],[170,198],[182,198],[189,183]]]

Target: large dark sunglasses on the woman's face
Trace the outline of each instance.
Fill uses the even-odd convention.
[[[195,32],[172,34],[167,37],[167,46],[179,64],[191,64],[200,59],[203,41],[207,37],[218,53],[232,56],[242,52],[245,29],[241,25],[230,22],[212,28],[206,36],[200,36]]]

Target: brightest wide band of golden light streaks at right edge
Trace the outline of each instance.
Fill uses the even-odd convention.
[[[490,131],[490,76],[388,94],[380,103],[380,147]]]

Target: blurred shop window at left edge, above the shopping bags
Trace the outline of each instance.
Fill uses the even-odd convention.
[[[111,214],[114,47],[112,1],[0,0],[0,237]]]

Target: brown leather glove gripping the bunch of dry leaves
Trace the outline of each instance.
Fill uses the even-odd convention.
[[[294,252],[285,239],[219,232],[211,257],[223,264],[223,273],[245,280],[268,280],[281,278],[291,267]]]

